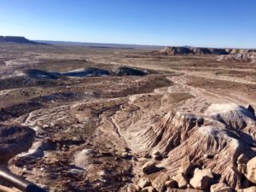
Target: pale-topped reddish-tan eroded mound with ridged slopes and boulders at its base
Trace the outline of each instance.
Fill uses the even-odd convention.
[[[164,167],[179,189],[190,188],[189,183],[201,190],[212,183],[243,189],[254,181],[253,163],[247,166],[247,160],[256,156],[256,121],[252,110],[242,106],[212,104],[204,117],[168,113],[142,131],[137,141],[140,151],[166,156],[155,166]],[[242,174],[247,174],[246,181]]]

